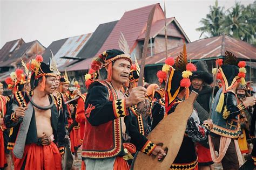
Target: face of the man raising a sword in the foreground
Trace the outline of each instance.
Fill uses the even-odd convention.
[[[119,59],[113,63],[112,80],[118,83],[126,83],[128,81],[131,64],[128,60]]]

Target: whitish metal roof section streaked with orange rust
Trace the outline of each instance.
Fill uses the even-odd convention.
[[[84,47],[86,42],[91,37],[92,33],[83,34],[81,36],[76,37],[70,37],[68,38],[62,47],[58,50],[58,52],[55,54],[55,59],[57,62],[57,66],[62,66],[66,63],[69,63],[70,61],[73,61],[72,59],[62,59],[62,57],[70,57],[70,58],[77,58],[77,54],[80,52],[80,50]]]

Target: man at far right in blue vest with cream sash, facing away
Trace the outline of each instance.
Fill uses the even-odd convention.
[[[218,59],[219,68],[215,71],[217,78],[221,80],[222,89],[216,95],[213,103],[211,118],[213,129],[209,145],[214,162],[221,162],[224,169],[238,169],[242,163],[237,138],[240,136],[240,118],[247,107],[254,105],[256,99],[248,97],[240,104],[237,102],[235,89],[241,83],[245,85],[245,61],[238,63],[237,58],[231,52],[226,51],[224,64]],[[214,153],[219,152],[217,157]]]

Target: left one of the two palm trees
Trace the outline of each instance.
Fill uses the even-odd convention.
[[[217,0],[215,1],[215,6],[210,6],[210,13],[206,15],[206,18],[200,20],[203,26],[196,29],[197,31],[201,31],[200,37],[204,33],[209,34],[210,37],[223,34],[224,29],[222,24],[225,17],[223,9],[223,7],[218,6]]]

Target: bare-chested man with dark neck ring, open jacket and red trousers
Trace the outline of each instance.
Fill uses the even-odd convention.
[[[56,73],[42,62],[41,55],[31,61],[31,91],[17,93],[4,117],[6,128],[18,133],[14,145],[15,169],[62,169],[65,123],[58,119],[55,101]]]

